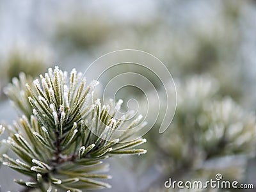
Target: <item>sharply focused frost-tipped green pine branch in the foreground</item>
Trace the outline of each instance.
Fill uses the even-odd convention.
[[[102,161],[125,154],[145,154],[134,148],[146,140],[128,140],[141,129],[141,116],[128,123],[131,113],[117,118],[122,100],[106,105],[92,100],[95,81],[85,86],[82,74],[58,67],[49,68],[45,76],[32,81],[20,74],[5,92],[22,116],[8,126],[9,137],[1,143],[17,156],[3,154],[2,163],[30,180],[14,180],[24,191],[84,191],[111,188],[101,179],[108,166]],[[26,83],[26,84],[25,84]],[[26,87],[25,87],[26,86]],[[136,128],[136,129],[133,129]],[[116,134],[116,130],[123,130]],[[4,127],[0,127],[0,133]],[[118,138],[117,138],[118,136]]]

